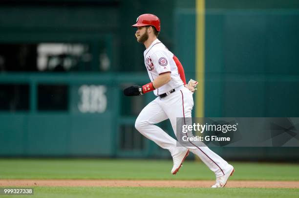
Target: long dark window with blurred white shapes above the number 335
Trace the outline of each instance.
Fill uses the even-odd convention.
[[[108,71],[105,41],[93,43],[0,44],[0,72]]]

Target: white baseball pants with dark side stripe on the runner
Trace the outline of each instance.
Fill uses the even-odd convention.
[[[180,86],[175,88],[170,95],[164,98],[157,97],[151,101],[137,117],[135,128],[163,149],[168,149],[171,156],[175,156],[181,151],[181,147],[177,146],[175,139],[155,124],[170,119],[173,132],[176,135],[176,118],[192,117],[193,105],[192,92],[188,88]],[[228,163],[208,147],[194,145],[194,147],[186,148],[196,154],[216,176],[223,176],[226,172]]]

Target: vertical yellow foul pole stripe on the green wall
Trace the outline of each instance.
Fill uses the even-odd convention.
[[[195,91],[195,116],[204,117],[205,98],[205,0],[196,0],[196,46],[195,78],[198,81]]]

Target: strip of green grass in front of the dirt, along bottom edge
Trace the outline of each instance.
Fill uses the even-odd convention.
[[[33,198],[298,198],[298,189],[34,187]],[[19,197],[20,196],[2,196]],[[28,196],[25,196],[28,197]]]

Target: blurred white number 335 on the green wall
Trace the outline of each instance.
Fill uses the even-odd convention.
[[[78,109],[82,113],[103,113],[107,109],[106,86],[82,85]]]

